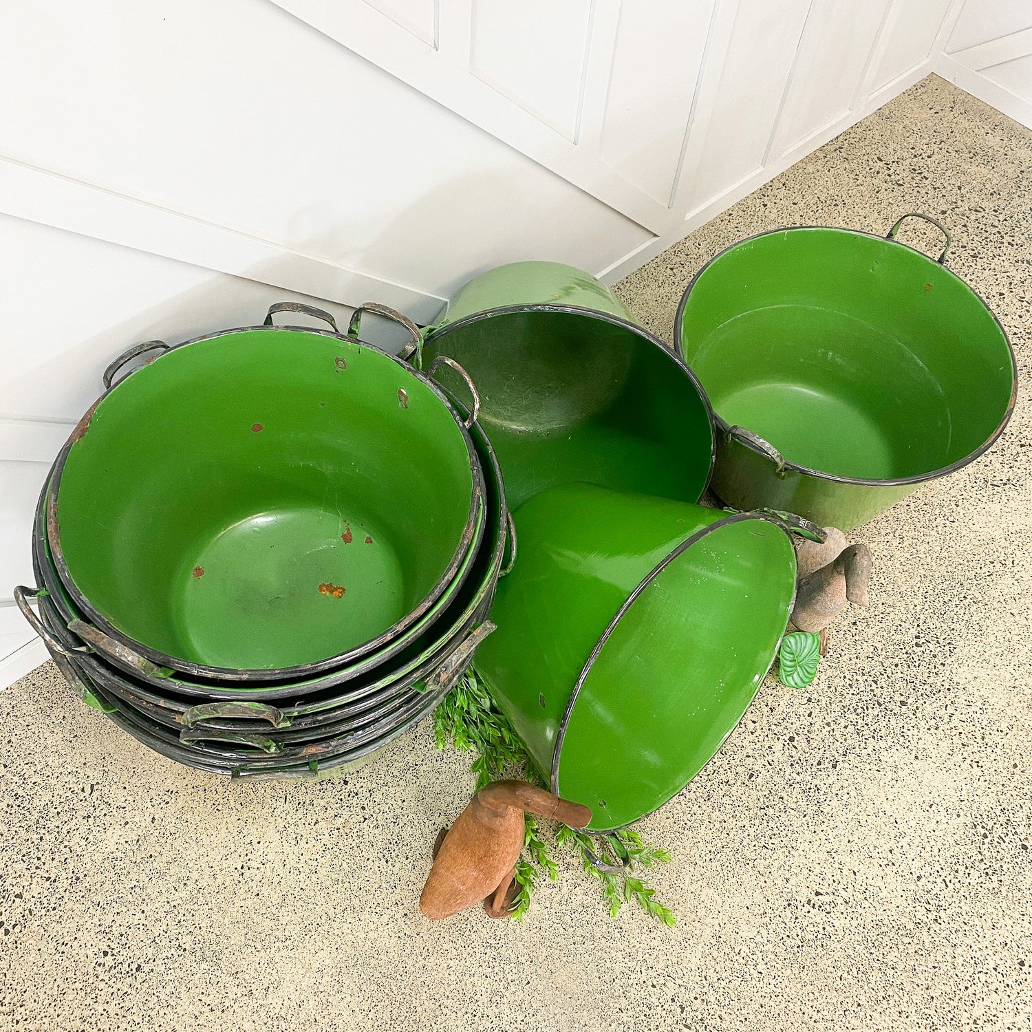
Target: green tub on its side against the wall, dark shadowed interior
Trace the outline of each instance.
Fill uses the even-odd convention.
[[[709,402],[687,365],[580,269],[517,262],[471,281],[422,361],[460,363],[516,508],[583,481],[697,502],[713,463]],[[438,379],[464,389],[455,370]]]

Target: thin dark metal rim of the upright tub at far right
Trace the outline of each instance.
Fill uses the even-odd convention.
[[[683,322],[684,309],[688,302],[688,295],[691,293],[696,284],[699,282],[700,277],[706,271],[715,261],[722,258],[728,252],[734,251],[735,248],[740,247],[743,244],[751,244],[752,240],[759,240],[763,236],[778,236],[784,233],[792,232],[805,232],[813,229],[829,230],[836,233],[846,233],[851,236],[867,236],[870,239],[878,240],[881,244],[895,246],[899,248],[906,248],[907,251],[912,251],[920,258],[923,258],[930,265],[934,265],[936,268],[942,269],[949,276],[952,276],[958,283],[964,286],[966,289],[970,290],[972,295],[979,301],[979,303],[985,308],[985,310],[990,314],[993,322],[996,323],[1003,336],[1003,343],[1007,346],[1007,352],[1010,355],[1010,367],[1012,372],[1012,384],[1010,388],[1010,400],[1007,402],[1007,408],[1003,413],[1003,418],[1000,420],[999,425],[995,430],[989,436],[985,444],[979,445],[970,455],[965,456],[962,459],[958,459],[956,462],[952,462],[949,465],[944,465],[940,470],[935,470],[932,473],[922,473],[913,477],[897,477],[893,480],[870,480],[864,477],[840,477],[834,473],[823,473],[820,470],[811,470],[809,466],[800,465],[798,462],[789,462],[787,459],[784,460],[783,469],[792,471],[793,473],[802,474],[806,477],[815,477],[817,480],[828,480],[835,484],[853,484],[858,487],[915,487],[918,484],[924,484],[929,480],[936,480],[939,477],[948,476],[950,473],[956,473],[958,470],[963,470],[964,466],[970,465],[976,458],[980,458],[982,455],[989,451],[993,445],[1000,439],[1000,434],[1006,429],[1007,423],[1010,422],[1010,417],[1013,415],[1014,406],[1018,404],[1018,357],[1014,355],[1013,346],[1010,343],[1010,337],[1007,336],[1007,331],[1003,328],[1003,324],[997,318],[996,313],[989,307],[986,299],[972,287],[966,280],[959,277],[952,268],[947,265],[936,261],[934,258],[930,258],[924,251],[918,251],[916,248],[910,247],[909,244],[904,244],[902,240],[894,237],[881,236],[878,233],[870,233],[863,229],[846,229],[842,226],[782,226],[780,229],[768,229],[762,233],[753,233],[751,236],[746,236],[730,247],[724,248],[718,254],[715,254],[708,262],[698,272],[691,278],[688,283],[687,288],[681,295],[680,301],[677,304],[677,313],[674,316],[674,348],[678,353],[678,356],[684,359],[684,342],[682,340],[681,325]],[[720,433],[727,434],[731,432],[731,424],[728,423],[721,416],[716,413],[713,414],[713,420],[719,429]],[[751,444],[744,441],[741,442],[750,451],[755,452],[762,457],[767,457],[757,448],[754,448]]]

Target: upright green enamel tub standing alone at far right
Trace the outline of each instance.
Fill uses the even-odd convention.
[[[937,258],[897,239],[908,218],[945,234]],[[715,412],[723,502],[847,530],[993,445],[1017,363],[948,246],[912,213],[884,237],[762,233],[703,267],[675,333]]]

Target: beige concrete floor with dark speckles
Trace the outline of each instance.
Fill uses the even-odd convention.
[[[621,286],[665,336],[712,254],[911,209],[1026,384],[1032,133],[932,78]],[[913,237],[912,237],[913,238]],[[345,782],[230,784],[150,753],[46,667],[0,694],[0,1026],[1029,1029],[1032,419],[875,520],[869,611],[814,685],[768,680],[643,825],[673,931],[562,859],[522,927],[417,909],[465,762],[424,725]]]

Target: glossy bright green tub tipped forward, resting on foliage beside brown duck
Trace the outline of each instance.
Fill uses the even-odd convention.
[[[589,830],[620,828],[676,795],[755,695],[792,611],[792,541],[766,514],[588,484],[514,519],[519,561],[475,667],[552,792],[591,808]]]

